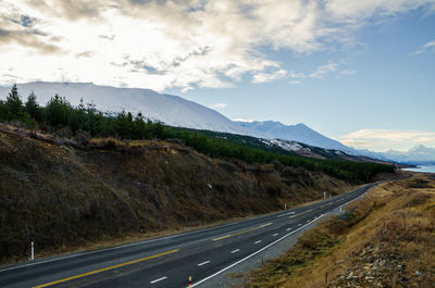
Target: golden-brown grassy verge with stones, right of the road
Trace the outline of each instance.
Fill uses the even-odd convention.
[[[251,272],[243,287],[433,287],[434,220],[435,176],[384,184]]]

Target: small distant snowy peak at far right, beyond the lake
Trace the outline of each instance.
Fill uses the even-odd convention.
[[[435,149],[425,147],[424,145],[415,146],[408,151],[388,150],[382,153],[383,156],[409,164],[435,162]]]

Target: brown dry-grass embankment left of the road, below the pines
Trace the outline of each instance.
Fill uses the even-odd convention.
[[[279,163],[209,159],[176,143],[94,140],[78,149],[0,132],[0,262],[320,199],[350,185]],[[42,138],[42,139],[41,139]]]

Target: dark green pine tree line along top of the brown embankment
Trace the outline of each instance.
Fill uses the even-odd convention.
[[[391,165],[351,162],[339,160],[319,160],[288,155],[250,147],[240,140],[228,140],[210,132],[192,130],[166,126],[152,122],[141,113],[108,113],[97,110],[95,104],[72,105],[65,98],[54,95],[42,107],[34,92],[23,102],[14,85],[5,101],[0,101],[0,121],[20,122],[28,128],[45,130],[66,129],[74,137],[88,133],[92,137],[115,137],[130,140],[178,139],[185,146],[212,158],[239,159],[247,163],[271,163],[279,161],[284,165],[322,171],[334,177],[353,181],[369,181],[380,172],[394,172]]]

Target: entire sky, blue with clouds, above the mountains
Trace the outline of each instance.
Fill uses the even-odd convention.
[[[435,148],[435,0],[2,0],[0,85],[149,88],[373,151]]]

